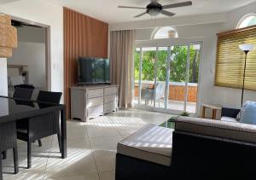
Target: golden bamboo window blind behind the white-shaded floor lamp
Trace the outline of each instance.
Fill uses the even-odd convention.
[[[240,44],[256,46],[256,26],[218,33],[216,86],[241,89],[245,54]],[[247,55],[245,89],[256,90],[256,49]]]

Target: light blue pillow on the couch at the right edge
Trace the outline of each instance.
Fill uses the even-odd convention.
[[[244,114],[241,117],[240,123],[245,123],[249,125],[256,125],[256,104],[248,104],[245,108]]]

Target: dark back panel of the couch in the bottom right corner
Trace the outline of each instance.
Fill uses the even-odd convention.
[[[174,131],[171,166],[175,180],[255,179],[256,146]]]

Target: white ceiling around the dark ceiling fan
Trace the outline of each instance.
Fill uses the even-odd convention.
[[[108,23],[118,23],[133,20],[150,20],[151,16],[144,15],[140,18],[133,18],[134,15],[143,13],[143,9],[118,9],[119,5],[146,7],[150,0],[47,0],[49,3],[56,3],[70,9],[77,10],[84,15],[90,15],[96,19]],[[180,3],[188,0],[159,0],[162,5],[169,3]],[[227,12],[240,8],[256,0],[192,0],[193,5],[177,9],[168,9],[176,16],[204,15],[212,13]],[[158,15],[157,18],[166,18],[165,15]]]

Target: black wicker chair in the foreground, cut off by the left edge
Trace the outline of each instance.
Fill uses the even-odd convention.
[[[17,134],[15,122],[0,124],[0,152],[13,148],[15,174],[19,172]],[[0,157],[0,179],[3,179],[2,158]]]

